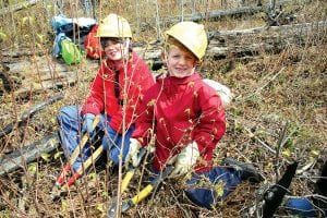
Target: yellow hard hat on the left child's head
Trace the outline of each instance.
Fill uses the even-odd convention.
[[[124,17],[109,14],[100,22],[97,37],[132,38],[132,32]]]

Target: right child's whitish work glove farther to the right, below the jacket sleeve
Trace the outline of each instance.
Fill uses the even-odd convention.
[[[199,152],[196,142],[192,142],[184,147],[179,155],[172,158],[174,169],[170,177],[180,177],[186,174],[187,171],[196,164]],[[171,161],[169,161],[170,164]]]

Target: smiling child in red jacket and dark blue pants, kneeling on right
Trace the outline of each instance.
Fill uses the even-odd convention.
[[[135,166],[140,148],[147,146],[155,134],[154,171],[174,165],[170,177],[192,172],[186,182],[187,196],[199,206],[211,208],[242,180],[258,182],[262,178],[253,166],[230,158],[225,164],[234,168],[213,167],[214,150],[226,132],[226,113],[217,92],[195,70],[207,48],[204,26],[193,22],[175,24],[166,32],[164,47],[168,74],[158,78],[141,100],[141,117],[130,140],[126,161],[132,160]],[[223,182],[223,194],[195,187],[203,175],[213,186]]]

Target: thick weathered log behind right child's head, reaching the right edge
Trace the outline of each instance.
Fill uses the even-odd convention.
[[[208,33],[209,45],[207,57],[220,60],[228,57],[242,58],[256,56],[262,51],[278,53],[287,45],[304,45],[310,43],[307,40],[310,37],[315,39],[313,44],[317,43],[317,39],[324,40],[326,33],[327,21],[210,32]],[[148,46],[138,44],[134,50],[146,61],[153,61],[157,64],[162,63],[160,62],[161,49],[159,41],[149,44]]]

